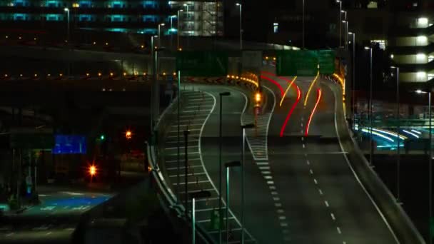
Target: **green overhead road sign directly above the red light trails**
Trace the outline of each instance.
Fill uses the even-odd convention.
[[[335,71],[333,50],[281,50],[276,51],[276,74],[278,76],[316,76]]]

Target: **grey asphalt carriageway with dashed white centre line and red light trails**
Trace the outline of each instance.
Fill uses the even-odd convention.
[[[276,76],[283,89],[288,86]],[[286,79],[291,80],[287,77]],[[330,81],[321,81],[311,89],[306,108],[303,103],[314,77],[299,77],[296,86],[301,99],[288,124],[281,126],[296,102],[296,86],[276,106],[269,134],[271,176],[281,198],[283,229],[288,243],[398,243],[375,205],[356,180],[341,150],[335,132],[335,96]],[[327,84],[329,83],[329,84]],[[274,86],[276,98],[281,91]],[[306,126],[318,101],[308,136]],[[321,136],[321,137],[319,137]]]

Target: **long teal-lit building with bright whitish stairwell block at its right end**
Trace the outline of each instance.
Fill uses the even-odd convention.
[[[178,17],[181,36],[223,34],[223,11],[216,14],[215,1],[0,0],[4,36],[44,34],[50,36],[46,39],[76,43],[92,43],[101,36],[105,43],[117,35],[118,42],[141,46],[150,36],[176,36]]]

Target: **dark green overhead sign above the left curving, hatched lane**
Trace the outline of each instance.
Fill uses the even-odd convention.
[[[222,51],[178,51],[176,70],[182,76],[226,76],[228,54]]]

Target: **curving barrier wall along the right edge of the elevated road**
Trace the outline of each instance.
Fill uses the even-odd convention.
[[[341,93],[336,91],[336,86],[330,86],[335,93],[336,106],[343,107],[341,103]],[[388,225],[393,230],[394,235],[399,243],[425,243],[422,235],[415,228],[415,225],[403,210],[401,205],[396,202],[395,197],[387,186],[381,181],[373,168],[370,168],[363,152],[358,148],[357,143],[351,136],[350,128],[345,121],[345,112],[343,109],[336,109],[336,130],[340,136],[340,143],[344,151],[348,152],[350,167],[354,171],[358,180],[363,184],[373,202],[378,206],[383,218],[387,220]]]

